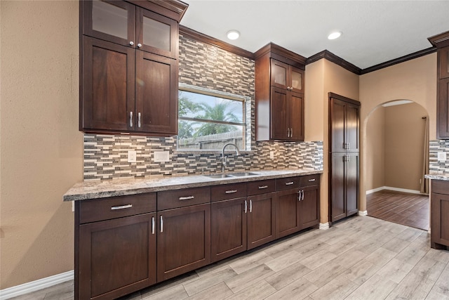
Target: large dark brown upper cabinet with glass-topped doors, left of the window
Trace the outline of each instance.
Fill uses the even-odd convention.
[[[80,1],[81,131],[177,134],[178,22],[187,5],[159,4]]]

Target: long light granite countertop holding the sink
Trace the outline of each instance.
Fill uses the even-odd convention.
[[[236,172],[239,171],[229,173]],[[250,172],[257,173],[257,175],[227,178],[210,178],[206,175],[152,176],[148,178],[112,179],[109,181],[83,181],[81,183],[76,183],[70,188],[67,193],[64,194],[63,199],[64,201],[87,200],[159,192],[161,190],[179,190],[181,188],[196,188],[200,186],[260,181],[264,179],[323,173],[322,170],[314,169],[276,169]]]

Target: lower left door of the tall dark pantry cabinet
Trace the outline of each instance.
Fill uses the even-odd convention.
[[[344,160],[345,153],[333,153],[331,159],[331,178],[330,178],[330,208],[332,222],[343,219],[346,216],[346,195],[345,195],[345,180],[344,180]]]

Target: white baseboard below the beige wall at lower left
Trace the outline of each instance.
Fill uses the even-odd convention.
[[[7,289],[0,289],[0,300],[10,299],[23,294],[39,291],[53,285],[58,285],[74,279],[74,270],[69,270],[65,273],[56,274],[50,277],[41,278],[32,282],[24,283],[23,285],[16,285],[15,287],[8,287]]]

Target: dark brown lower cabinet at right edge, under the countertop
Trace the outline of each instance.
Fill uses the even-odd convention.
[[[434,249],[449,249],[449,181],[431,181],[430,243]]]

